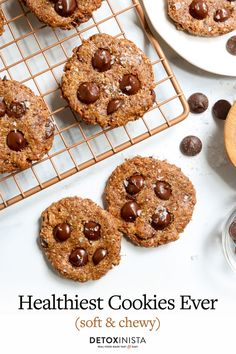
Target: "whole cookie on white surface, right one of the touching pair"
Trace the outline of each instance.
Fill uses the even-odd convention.
[[[105,197],[120,230],[143,247],[177,240],[196,203],[194,187],[178,167],[140,156],[115,169]]]

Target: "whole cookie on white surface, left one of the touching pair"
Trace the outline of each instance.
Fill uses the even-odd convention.
[[[115,218],[89,199],[65,198],[42,213],[41,248],[65,278],[101,278],[119,264],[120,243]]]

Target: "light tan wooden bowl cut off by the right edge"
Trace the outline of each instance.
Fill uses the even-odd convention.
[[[236,102],[231,107],[225,121],[224,140],[228,158],[236,167]]]

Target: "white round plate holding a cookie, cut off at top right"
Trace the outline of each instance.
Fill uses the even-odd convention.
[[[236,56],[226,50],[227,40],[236,35],[236,31],[213,38],[195,37],[179,31],[168,18],[166,3],[166,0],[143,0],[156,32],[191,64],[211,73],[236,76]]]

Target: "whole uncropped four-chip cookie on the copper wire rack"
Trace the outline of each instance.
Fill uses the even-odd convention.
[[[154,103],[151,62],[127,39],[94,35],[74,49],[64,70],[63,96],[88,124],[122,126]]]

